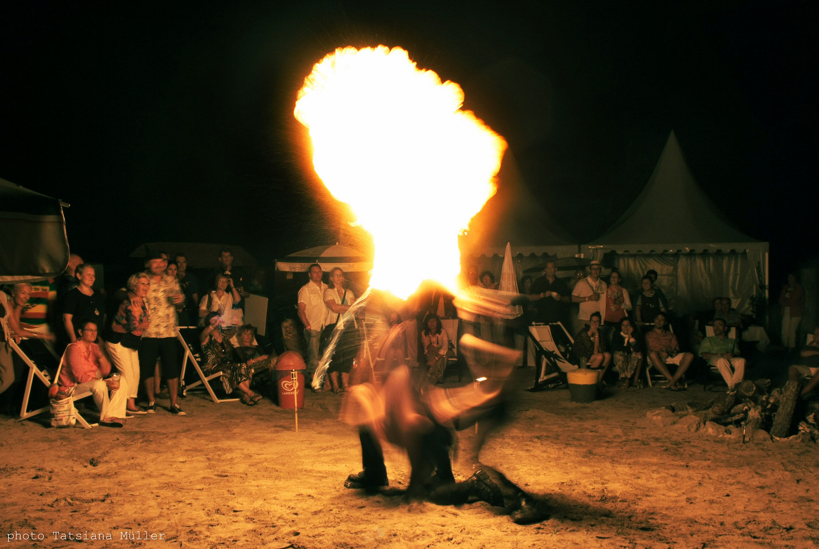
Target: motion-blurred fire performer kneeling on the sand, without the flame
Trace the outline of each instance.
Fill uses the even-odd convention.
[[[400,325],[393,326],[389,331],[373,332],[373,339],[380,340],[370,339],[365,344],[391,349],[392,340],[400,337]],[[428,383],[419,371],[400,364],[378,372],[375,378],[383,378],[382,383],[351,387],[342,407],[342,420],[359,428],[364,469],[349,475],[344,485],[368,493],[387,487],[380,443],[386,440],[405,448],[409,457],[412,470],[406,497],[438,505],[483,501],[497,512],[511,515],[518,524],[543,520],[545,512],[534,497],[479,459],[486,434],[505,416],[507,381],[520,355],[472,335],[464,336],[460,345],[473,376],[482,383],[442,389]],[[366,363],[364,355],[360,353],[360,358]],[[373,362],[380,362],[379,358]],[[474,464],[474,474],[464,482],[456,482],[450,461],[455,432],[476,424],[477,443],[468,457]]]

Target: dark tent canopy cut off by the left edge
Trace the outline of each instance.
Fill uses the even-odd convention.
[[[0,178],[0,282],[57,277],[68,265],[60,200]]]

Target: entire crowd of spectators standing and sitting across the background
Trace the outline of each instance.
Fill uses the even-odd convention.
[[[111,390],[110,403],[99,396],[105,392],[100,390],[101,385],[94,384],[94,398],[100,401],[101,412],[105,405],[107,414],[101,419],[113,425],[131,416],[156,413],[160,394],[169,400],[168,412],[184,415],[177,400],[177,327],[197,325],[204,369],[222,371],[224,391],[238,394],[242,403],[252,406],[261,397],[251,389],[251,380],[254,374],[272,369],[275,354],[260,349],[252,326],[244,322],[244,300],[250,294],[244,272],[233,266],[230,250],[220,250],[216,262],[211,276],[200,281],[188,270],[185,254],[176,254],[170,260],[163,252],[152,252],[146,259],[146,270],[129,277],[115,295],[109,315],[106,295],[95,286],[95,269],[72,254],[60,277],[8,286],[0,292],[2,339],[12,338],[37,359],[46,353],[36,340],[52,346],[57,356],[65,352],[66,367],[57,380],[59,389],[70,386],[64,383],[88,383],[92,381],[89,375],[104,380],[112,372],[118,373],[119,386]],[[554,262],[546,263],[541,277],[532,280],[527,276],[520,281],[520,292],[528,298],[523,302],[524,315],[507,324],[456,311],[450,292],[441,286],[424,286],[400,312],[391,311],[389,318],[383,319],[391,327],[405,323],[403,339],[390,340],[389,353],[395,355],[390,360],[421,367],[427,380],[436,384],[443,378],[447,358],[452,357],[460,335],[471,333],[508,343],[500,341],[505,338],[504,331],[517,329],[518,335],[523,335],[531,322],[561,322],[574,341],[569,359],[581,367],[600,369],[604,372],[601,378],[611,372],[609,379],[613,381],[616,375],[622,387],[639,386],[641,372],[647,367],[666,377],[666,386],[672,390],[685,388],[686,373],[690,375],[697,364],[718,371],[729,390],[744,379],[746,362],[740,356],[740,335],[749,319],[731,308],[731,299],[715,297],[711,311],[699,313],[696,318],[686,315],[676,319],[672,329],[667,298],[656,284],[657,272],[646,272],[640,287],[630,292],[622,286],[619,272],[613,270],[609,277],[603,277],[603,270],[603,265],[592,261],[587,270],[577,268],[572,277],[563,279],[557,277]],[[346,286],[341,268],[328,273],[326,282],[318,264],[310,266],[308,275],[309,281],[298,291],[296,308],[303,329],[305,373],[311,380],[333,328],[342,318],[351,316],[357,298]],[[465,269],[465,290],[496,288],[492,272],[478,274],[473,266]],[[799,348],[796,334],[803,302],[804,290],[790,275],[779,299],[782,341],[790,350]],[[360,323],[354,317],[352,326],[337,338],[330,356],[324,381],[326,388],[335,393],[344,392],[351,384],[351,371],[360,352]],[[458,318],[458,333],[448,333],[442,318]],[[96,334],[90,341],[89,322]],[[297,333],[296,326],[291,326],[293,334]],[[705,328],[708,334],[704,334]],[[84,351],[83,361],[78,358],[78,349]],[[89,349],[97,349],[98,353]],[[813,343],[803,350],[802,362],[816,362],[813,358],[819,356],[819,351],[815,349]],[[92,364],[96,364],[94,375],[88,373],[94,371]],[[0,403],[5,412],[13,412],[19,403],[23,368],[9,347],[0,343]],[[815,366],[792,370],[792,374],[809,376],[811,368]],[[815,385],[808,385],[807,390]],[[120,400],[124,403],[121,411]],[[115,412],[110,413],[111,409]]]

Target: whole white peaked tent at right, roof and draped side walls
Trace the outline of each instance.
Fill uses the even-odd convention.
[[[726,220],[691,175],[673,132],[631,208],[582,248],[589,259],[605,255],[628,287],[654,268],[678,312],[710,308],[715,296],[731,297],[743,311],[759,286],[768,285],[768,243]]]

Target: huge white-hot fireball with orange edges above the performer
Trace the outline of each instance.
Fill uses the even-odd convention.
[[[373,288],[455,287],[458,234],[495,194],[506,150],[463,104],[458,84],[400,47],[339,48],[305,79],[294,114],[319,178],[373,235]]]

